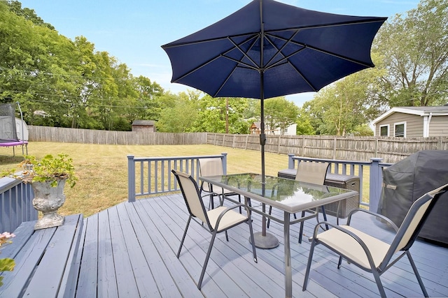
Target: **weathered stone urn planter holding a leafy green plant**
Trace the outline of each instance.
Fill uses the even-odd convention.
[[[48,154],[43,158],[25,156],[19,166],[22,172],[13,174],[13,177],[31,184],[34,191],[33,206],[43,214],[34,229],[62,225],[64,216],[57,214],[57,210],[65,202],[64,186],[68,184],[73,187],[77,181],[73,160],[67,154],[58,154],[56,157]]]

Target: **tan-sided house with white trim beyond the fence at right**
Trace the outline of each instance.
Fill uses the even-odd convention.
[[[446,137],[448,105],[393,107],[372,121],[379,137]]]

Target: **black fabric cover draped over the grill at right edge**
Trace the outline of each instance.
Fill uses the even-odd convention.
[[[448,151],[418,151],[384,169],[378,213],[400,226],[415,200],[447,183]],[[448,244],[448,193],[434,206],[419,237]]]

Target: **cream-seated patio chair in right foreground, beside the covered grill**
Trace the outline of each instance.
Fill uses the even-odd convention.
[[[430,191],[422,195],[416,200],[409,211],[405,219],[402,221],[400,228],[398,228],[393,221],[382,216],[381,214],[375,214],[365,209],[355,209],[350,212],[346,225],[333,225],[328,223],[332,228],[318,234],[319,226],[323,223],[318,223],[314,228],[313,237],[311,240],[311,248],[309,250],[309,259],[307,265],[307,271],[305,273],[303,288],[307,290],[307,282],[309,278],[309,270],[311,267],[311,261],[313,258],[314,247],[318,244],[323,244],[331,251],[334,251],[339,255],[339,262],[337,268],[339,269],[342,264],[342,258],[346,259],[349,263],[360,267],[365,271],[372,272],[374,280],[377,283],[379,293],[381,297],[386,297],[386,292],[381,284],[379,276],[383,274],[387,269],[395,265],[404,255],[407,255],[409,263],[414,270],[414,274],[419,282],[420,288],[423,291],[423,295],[428,297],[423,281],[417,271],[414,260],[411,258],[409,248],[414,244],[416,237],[418,236],[423,223],[433,209],[434,204],[440,198],[442,193],[448,191],[448,184],[440,186],[433,191]],[[365,212],[373,216],[377,216],[381,221],[388,223],[395,230],[395,237],[388,244],[381,239],[365,234],[356,228],[351,227],[351,216],[356,212]],[[400,253],[400,255],[398,255]],[[395,255],[398,255],[396,258]]]

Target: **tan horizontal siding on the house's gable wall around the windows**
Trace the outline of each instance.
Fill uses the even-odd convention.
[[[423,137],[423,117],[403,114],[403,113],[393,113],[386,119],[379,121],[376,125],[375,135],[380,135],[379,128],[383,125],[389,125],[389,136],[393,137],[395,133],[394,124],[406,123],[406,137]],[[432,121],[431,121],[432,122]]]

